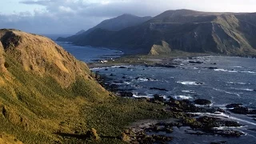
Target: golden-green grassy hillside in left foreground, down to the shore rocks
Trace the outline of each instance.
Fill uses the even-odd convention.
[[[49,38],[0,30],[0,40],[0,142],[120,143],[129,122],[162,117],[162,106],[116,98]]]

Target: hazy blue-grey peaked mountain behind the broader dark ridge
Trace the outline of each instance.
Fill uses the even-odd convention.
[[[150,18],[151,17],[138,17],[132,14],[122,14],[117,18],[107,19],[89,30],[86,30],[86,31],[81,30],[77,34],[70,36],[68,38],[58,38],[57,41],[73,42],[80,35],[84,36],[86,34],[90,34],[90,32],[96,29],[118,31],[130,26],[137,26],[139,24],[142,24],[143,22],[150,20]]]

